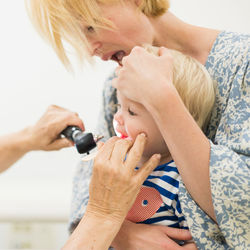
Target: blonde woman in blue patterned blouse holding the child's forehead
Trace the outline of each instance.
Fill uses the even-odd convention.
[[[198,248],[247,249],[250,38],[186,24],[167,11],[168,7],[165,0],[40,0],[35,1],[31,12],[65,64],[68,60],[62,40],[69,41],[79,55],[88,51],[123,65],[117,70],[118,78],[113,85],[148,109],[169,145],[189,192],[181,185],[181,205],[184,214],[192,218],[188,225]],[[217,82],[216,103],[206,131],[208,139],[171,84],[168,51],[162,48],[160,57],[155,57],[135,47],[145,43],[193,56],[205,64]],[[164,96],[168,93],[169,98],[163,98],[162,92]],[[116,102],[110,82],[104,94],[106,106],[100,124],[105,124],[105,135],[109,137],[115,112],[111,106]],[[126,223],[123,225],[126,230],[121,229],[117,242],[129,228],[132,228],[129,235],[140,234],[140,230],[133,229],[134,225]],[[150,249],[148,237],[142,238],[143,242],[132,240],[131,245]]]

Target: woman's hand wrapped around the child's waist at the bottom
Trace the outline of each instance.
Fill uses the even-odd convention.
[[[194,243],[187,243],[187,245],[180,246],[175,241],[189,241],[191,239],[192,236],[188,230],[136,224],[125,220],[112,246],[116,250],[197,249]]]

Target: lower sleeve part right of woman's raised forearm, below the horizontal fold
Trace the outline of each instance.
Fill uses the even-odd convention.
[[[210,183],[217,223],[227,244],[250,249],[249,156],[211,143]]]

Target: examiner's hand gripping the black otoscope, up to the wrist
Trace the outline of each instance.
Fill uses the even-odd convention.
[[[72,142],[60,137],[60,133],[70,125],[84,130],[77,113],[56,105],[49,106],[40,120],[26,130],[29,150],[50,151],[72,146]]]

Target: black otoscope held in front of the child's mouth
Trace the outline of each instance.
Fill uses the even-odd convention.
[[[80,154],[89,154],[89,151],[95,148],[96,143],[103,138],[103,136],[94,136],[92,133],[84,133],[77,126],[68,126],[61,134],[75,143]]]

